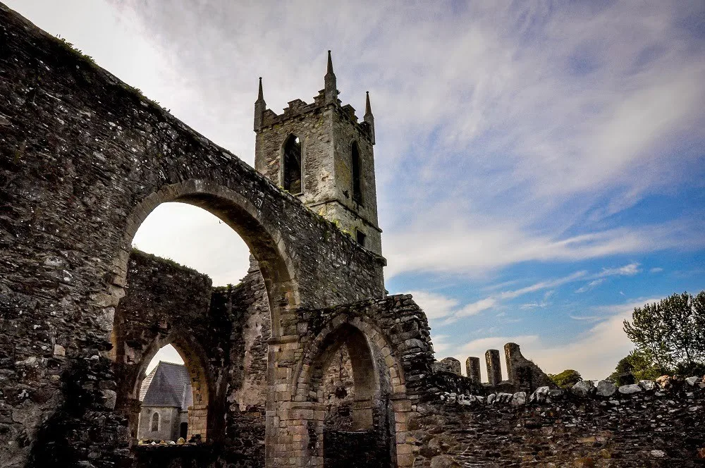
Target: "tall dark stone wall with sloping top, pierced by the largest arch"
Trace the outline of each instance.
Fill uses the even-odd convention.
[[[4,5],[0,45],[0,464],[124,453],[109,336],[130,240],[161,202],[238,230],[266,271],[277,336],[298,336],[298,306],[384,295],[377,257]]]

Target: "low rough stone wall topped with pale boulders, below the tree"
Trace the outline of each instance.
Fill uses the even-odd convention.
[[[468,395],[417,405],[415,467],[697,467],[705,380]]]

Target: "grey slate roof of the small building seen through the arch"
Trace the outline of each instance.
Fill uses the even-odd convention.
[[[183,364],[160,361],[142,382],[140,400],[142,407],[175,407],[186,410],[193,404],[188,369]]]

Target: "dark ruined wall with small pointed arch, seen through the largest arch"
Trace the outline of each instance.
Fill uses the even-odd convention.
[[[239,285],[226,288],[211,288],[207,276],[137,250],[128,266],[128,294],[118,307],[114,328],[116,348],[125,350],[124,358],[118,356],[118,362],[124,364],[117,364],[118,382],[123,383],[118,388],[118,407],[124,407],[126,413],[136,407],[134,391],[140,383],[137,373],[143,377],[154,352],[172,343],[192,371],[192,385],[209,387],[203,395],[208,400],[209,430],[192,427],[190,414],[189,435],[200,433],[214,444],[209,452],[212,463],[237,460],[241,466],[264,466],[270,319],[257,263],[252,260],[250,271]],[[198,383],[195,379],[201,366],[206,367],[207,381]],[[124,398],[132,389],[133,400]],[[199,404],[197,392],[194,397],[195,405]],[[142,424],[148,427],[149,421]],[[152,457],[147,455],[159,449],[133,448],[138,455],[136,466],[149,466]],[[189,450],[164,453],[175,467],[193,462],[190,457],[194,452]],[[206,460],[206,452],[198,453],[200,460]]]

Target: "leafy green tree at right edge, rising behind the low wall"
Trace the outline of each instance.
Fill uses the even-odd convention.
[[[624,331],[642,353],[630,362],[637,359],[635,362],[642,366],[639,359],[651,360],[651,366],[638,369],[654,367],[659,375],[668,370],[697,373],[705,365],[705,290],[695,297],[674,294],[635,307],[632,321],[624,321]]]

